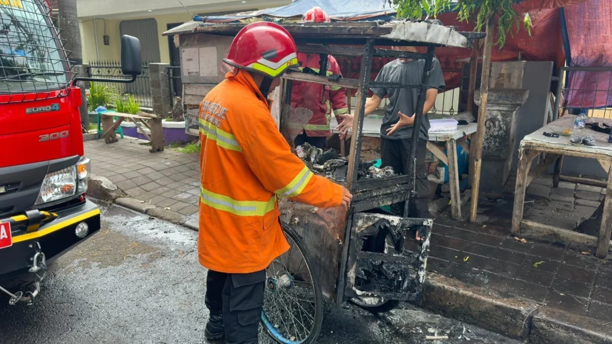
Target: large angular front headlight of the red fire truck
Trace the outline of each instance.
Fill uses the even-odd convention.
[[[76,166],[48,173],[35,204],[49,203],[76,194]]]

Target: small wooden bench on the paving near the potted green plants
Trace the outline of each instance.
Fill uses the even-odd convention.
[[[102,113],[100,116],[102,116],[102,130],[104,131],[103,135],[106,143],[118,141],[115,130],[121,125],[121,122],[127,119],[136,124],[140,132],[151,142],[150,152],[163,151],[162,119],[158,116],[147,113],[129,114],[120,112]],[[114,118],[118,118],[117,121]],[[149,129],[150,134],[144,129]]]

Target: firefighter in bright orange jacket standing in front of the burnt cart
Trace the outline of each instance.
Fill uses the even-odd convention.
[[[277,24],[248,24],[223,61],[234,68],[200,105],[198,256],[209,269],[204,335],[257,343],[266,267],[289,249],[277,197],[318,207],[348,206],[351,194],[315,176],[291,152],[267,94],[297,66],[296,43]]]

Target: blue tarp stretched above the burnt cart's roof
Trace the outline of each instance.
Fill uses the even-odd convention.
[[[335,20],[391,20],[395,9],[387,0],[296,0],[283,7],[237,13],[235,15],[206,17],[209,23],[230,23],[252,17],[291,18],[302,15],[315,6],[321,7],[327,15]]]

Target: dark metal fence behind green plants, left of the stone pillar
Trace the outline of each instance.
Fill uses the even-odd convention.
[[[88,74],[91,78],[122,78],[121,62],[119,61],[90,61]],[[143,73],[136,77],[136,81],[129,84],[111,83],[119,94],[133,95],[140,106],[152,108],[151,79],[149,78],[149,62],[143,62]]]

